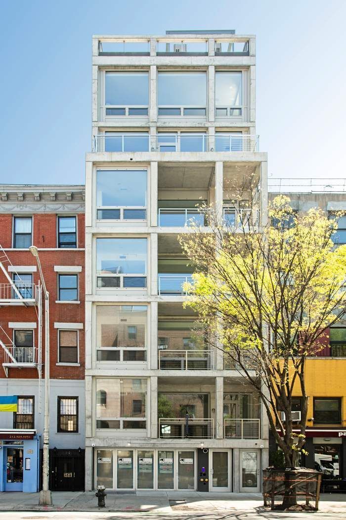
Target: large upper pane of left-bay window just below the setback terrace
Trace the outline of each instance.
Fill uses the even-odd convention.
[[[147,172],[146,170],[98,171],[96,173],[96,193],[98,207],[145,207],[147,205]]]

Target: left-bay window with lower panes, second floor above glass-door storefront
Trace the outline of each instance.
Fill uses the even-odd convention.
[[[146,305],[96,307],[97,360],[146,360]]]

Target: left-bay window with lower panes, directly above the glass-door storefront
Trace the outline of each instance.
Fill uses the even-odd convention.
[[[146,428],[146,379],[97,379],[96,395],[103,396],[96,399],[96,428]]]

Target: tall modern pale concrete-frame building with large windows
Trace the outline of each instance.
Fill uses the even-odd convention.
[[[267,215],[255,37],[94,36],[86,158],[86,490],[258,491],[268,424],[183,308],[177,237]],[[234,192],[242,186],[238,211]]]

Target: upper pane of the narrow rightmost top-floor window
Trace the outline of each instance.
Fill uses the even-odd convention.
[[[242,73],[215,72],[215,107],[239,107],[241,105]]]

